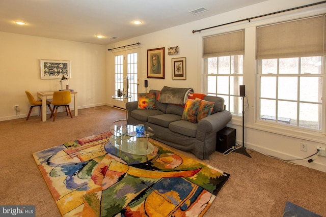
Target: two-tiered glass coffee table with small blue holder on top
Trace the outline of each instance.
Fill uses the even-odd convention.
[[[154,151],[154,146],[148,138],[154,135],[154,130],[148,126],[139,125],[143,133],[139,133],[137,126],[133,125],[112,125],[110,142],[120,151],[131,154],[146,155]],[[138,132],[137,132],[138,131]]]

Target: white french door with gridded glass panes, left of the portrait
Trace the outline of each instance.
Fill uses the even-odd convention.
[[[113,105],[125,109],[125,103],[136,101],[138,93],[138,57],[139,48],[114,53],[115,92],[131,96],[129,99],[114,100]]]

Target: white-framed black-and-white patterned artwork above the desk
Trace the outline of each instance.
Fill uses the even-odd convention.
[[[71,78],[70,61],[41,59],[41,79]]]

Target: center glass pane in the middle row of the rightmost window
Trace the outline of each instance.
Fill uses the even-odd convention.
[[[297,100],[297,77],[279,77],[278,94],[282,100]]]

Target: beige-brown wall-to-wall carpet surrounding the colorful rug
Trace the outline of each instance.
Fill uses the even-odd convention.
[[[124,111],[100,106],[80,109],[73,119],[61,112],[55,122],[1,121],[0,205],[36,205],[36,216],[61,216],[32,153],[107,131],[120,118]],[[215,152],[202,161],[231,174],[205,216],[283,216],[286,201],[326,216],[326,173],[249,152],[252,158]]]

